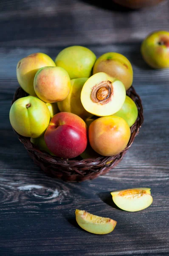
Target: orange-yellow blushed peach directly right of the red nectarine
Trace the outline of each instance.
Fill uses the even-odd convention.
[[[130,127],[118,116],[104,116],[93,121],[89,126],[91,147],[103,156],[119,154],[130,139]]]

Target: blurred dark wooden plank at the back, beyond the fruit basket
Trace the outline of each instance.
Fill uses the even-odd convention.
[[[136,42],[153,30],[168,29],[168,1],[135,12],[121,12],[111,4],[109,7],[108,1],[104,9],[96,1],[93,5],[78,0],[45,0],[43,4],[31,0],[24,5],[15,1],[18,8],[13,1],[7,6],[1,2],[1,46]]]

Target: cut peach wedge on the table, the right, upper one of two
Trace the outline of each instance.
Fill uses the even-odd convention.
[[[150,188],[124,189],[111,192],[113,202],[124,211],[136,212],[152,204]]]

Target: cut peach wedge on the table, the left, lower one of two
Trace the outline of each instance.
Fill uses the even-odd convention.
[[[78,225],[93,234],[108,234],[114,230],[117,224],[117,221],[110,218],[103,218],[78,209],[76,209],[75,214]]]

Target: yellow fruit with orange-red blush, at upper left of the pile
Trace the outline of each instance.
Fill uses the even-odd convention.
[[[17,80],[25,92],[35,95],[34,77],[41,67],[56,67],[54,61],[45,53],[37,52],[21,59],[17,64]]]

